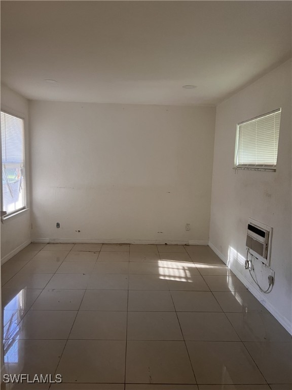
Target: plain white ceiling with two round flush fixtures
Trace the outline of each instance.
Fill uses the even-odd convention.
[[[291,57],[291,2],[2,1],[1,50],[28,99],[214,105]]]

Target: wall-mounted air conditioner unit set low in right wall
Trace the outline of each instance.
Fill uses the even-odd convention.
[[[271,226],[252,218],[248,219],[246,246],[252,255],[268,266],[271,261],[272,232]]]

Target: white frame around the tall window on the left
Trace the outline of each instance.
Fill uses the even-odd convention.
[[[25,117],[22,115],[19,115],[15,112],[11,112],[10,110],[1,109],[1,113],[8,114],[11,116],[14,116],[18,119],[22,120],[23,123],[23,200],[24,205],[23,207],[14,210],[12,212],[9,212],[1,217],[1,220],[4,221],[5,219],[11,218],[19,213],[22,213],[23,211],[27,210],[27,180],[26,180],[26,136],[25,136]],[[1,190],[1,210],[3,210],[3,163],[2,163],[2,128],[0,131],[0,190]]]

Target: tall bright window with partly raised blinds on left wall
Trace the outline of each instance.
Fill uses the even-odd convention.
[[[1,111],[2,208],[7,215],[25,208],[24,123]]]

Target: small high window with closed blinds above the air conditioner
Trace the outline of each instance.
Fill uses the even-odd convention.
[[[276,170],[281,109],[237,124],[235,167]]]

